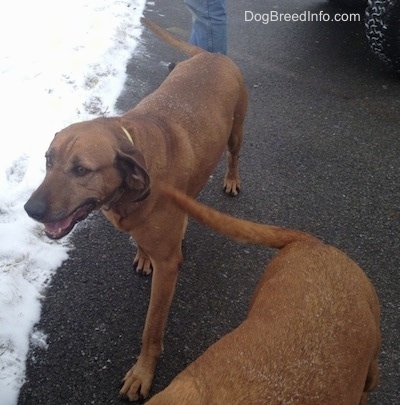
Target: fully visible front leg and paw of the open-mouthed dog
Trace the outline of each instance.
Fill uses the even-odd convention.
[[[163,349],[164,330],[181,263],[181,252],[169,260],[152,258],[153,279],[142,349],[137,362],[126,373],[120,391],[130,401],[146,398],[149,394],[157,360]]]

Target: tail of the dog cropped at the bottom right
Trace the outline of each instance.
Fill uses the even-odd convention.
[[[196,221],[229,236],[237,242],[277,249],[297,241],[319,242],[317,238],[305,232],[272,225],[256,224],[223,214],[170,187],[164,187],[162,192]]]

